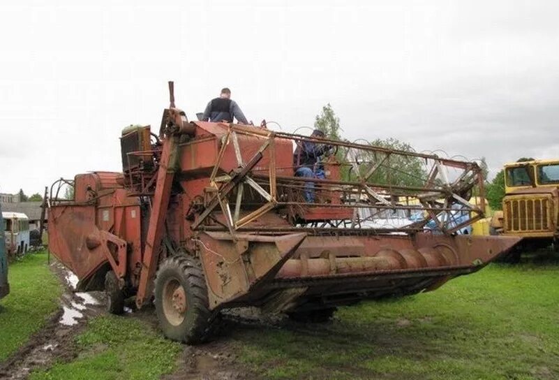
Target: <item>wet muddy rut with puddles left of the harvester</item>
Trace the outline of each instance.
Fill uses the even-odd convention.
[[[72,272],[57,261],[50,269],[64,285],[61,307],[27,344],[0,364],[0,379],[27,379],[31,371],[48,367],[54,360],[72,360],[77,356],[74,337],[89,318],[105,312],[103,293],[76,293],[77,277]]]

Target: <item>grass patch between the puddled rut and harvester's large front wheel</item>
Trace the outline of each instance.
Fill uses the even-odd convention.
[[[80,356],[34,372],[31,380],[159,379],[174,370],[183,347],[131,317],[99,316],[76,337]]]

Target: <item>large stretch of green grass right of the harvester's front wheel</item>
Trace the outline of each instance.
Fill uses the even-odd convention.
[[[556,379],[559,265],[490,265],[327,325],[232,334],[266,379]]]

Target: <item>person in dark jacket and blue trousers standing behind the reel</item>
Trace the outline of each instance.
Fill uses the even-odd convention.
[[[324,132],[315,129],[311,134],[313,138],[324,138]],[[293,154],[293,167],[295,168],[295,177],[325,178],[324,166],[320,163],[320,157],[327,154],[332,149],[331,145],[318,144],[311,141],[297,142],[297,149]],[[306,202],[315,201],[315,184],[314,182],[305,182],[304,198]]]

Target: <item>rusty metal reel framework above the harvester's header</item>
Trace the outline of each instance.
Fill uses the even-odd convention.
[[[258,152],[248,161],[244,162],[241,156],[241,149],[237,136],[245,135],[262,140],[262,145]],[[320,186],[320,191],[329,192],[337,196],[340,202],[323,202],[323,203],[306,203],[304,200],[289,199],[283,197],[278,199],[278,194],[283,193],[286,188],[303,191],[305,183],[308,179],[295,176],[278,176],[276,175],[276,157],[274,156],[275,140],[281,138],[293,140],[295,143],[311,142],[315,144],[327,144],[332,147],[345,148],[343,160],[338,162],[340,167],[348,167],[355,174],[355,180],[330,180],[330,179],[313,179],[312,182]],[[234,173],[220,173],[219,167],[223,159],[225,150],[229,145],[234,147],[235,157],[237,159],[237,170]],[[377,161],[359,162],[357,157],[359,154],[380,154],[381,159]],[[255,166],[264,154],[269,154],[268,173],[255,173]],[[422,179],[421,187],[405,186],[401,184],[383,184],[370,182],[371,177],[377,173],[380,168],[387,167],[391,156],[400,156],[412,159],[419,159],[429,166],[427,177]],[[389,166],[388,166],[389,167]],[[450,180],[449,168],[458,170],[459,173],[454,175],[454,180]],[[365,170],[364,170],[365,169]],[[364,172],[364,174],[362,174]],[[434,220],[438,229],[442,233],[452,234],[459,231],[463,226],[472,224],[484,217],[484,198],[483,198],[483,175],[482,170],[477,163],[456,161],[452,159],[442,159],[434,154],[420,154],[415,152],[403,152],[395,149],[386,149],[383,147],[373,147],[371,145],[355,144],[345,141],[325,140],[320,138],[311,138],[300,135],[291,135],[288,133],[278,133],[267,129],[248,129],[245,126],[230,124],[228,132],[223,136],[221,150],[216,160],[216,165],[210,178],[211,193],[213,197],[207,203],[204,212],[197,218],[193,229],[203,230],[204,221],[216,209],[220,209],[225,215],[225,222],[228,231],[234,235],[235,231],[243,228],[255,221],[269,210],[282,207],[302,207],[304,209],[317,207],[334,207],[336,210],[343,208],[355,209],[356,207],[370,207],[377,210],[414,210],[424,211],[425,215],[422,220],[410,224],[401,232],[421,231],[424,226],[431,220]],[[251,187],[260,196],[264,203],[250,214],[241,216],[240,210],[243,207],[243,195],[246,186]],[[465,193],[471,193],[472,188],[477,187],[481,195],[482,204],[472,205],[466,200]],[[230,207],[228,194],[236,193],[234,212]],[[401,205],[397,198],[404,197],[408,200],[414,198],[417,204]],[[366,199],[365,202],[360,201]],[[452,226],[445,225],[445,220],[452,219],[452,212],[472,212],[472,217],[461,224]],[[445,213],[447,216],[445,217]],[[356,215],[356,213],[354,213]],[[352,228],[359,228],[359,220],[354,217],[351,221]],[[260,232],[262,228],[259,228]],[[393,232],[393,231],[376,231]]]

